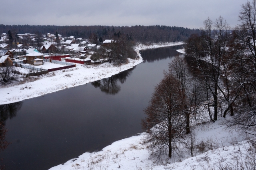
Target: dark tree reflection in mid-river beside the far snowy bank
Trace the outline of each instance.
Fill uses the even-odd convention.
[[[121,90],[121,86],[118,85],[117,81],[119,80],[123,84],[132,74],[134,68],[135,67],[130,68],[109,78],[94,81],[91,84],[95,88],[100,88],[100,90],[106,94],[117,94]]]

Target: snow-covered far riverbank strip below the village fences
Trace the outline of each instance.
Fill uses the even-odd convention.
[[[22,84],[10,84],[6,87],[0,88],[0,104],[7,104],[18,102],[29,98],[34,98],[71,88],[80,86],[88,82],[108,78],[114,74],[118,74],[124,70],[128,70],[143,60],[140,56],[139,50],[149,48],[160,48],[166,46],[176,46],[184,44],[183,42],[153,44],[153,45],[138,45],[135,50],[139,56],[137,60],[128,59],[129,63],[122,66],[115,66],[112,63],[103,63],[100,65],[85,66],[76,64],[76,68],[55,71],[54,74],[39,76],[38,80],[31,82],[23,82]],[[27,71],[25,71],[27,72]]]

